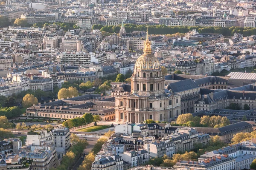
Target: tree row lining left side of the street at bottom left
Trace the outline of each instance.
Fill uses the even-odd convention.
[[[69,151],[63,156],[61,164],[50,170],[69,170],[88,145],[88,142],[85,139],[79,139],[75,134],[71,134],[70,142],[72,147],[70,147]]]

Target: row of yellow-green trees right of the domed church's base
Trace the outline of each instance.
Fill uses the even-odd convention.
[[[223,127],[230,125],[227,117],[221,116],[193,116],[191,113],[181,114],[177,117],[176,124],[189,127]]]

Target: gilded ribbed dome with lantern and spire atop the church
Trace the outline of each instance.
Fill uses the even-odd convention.
[[[148,29],[147,29],[147,39],[144,42],[144,54],[141,55],[136,63],[135,63],[135,69],[140,70],[155,70],[160,69],[161,65],[158,61],[157,57],[152,54],[151,50],[151,42],[148,40]]]

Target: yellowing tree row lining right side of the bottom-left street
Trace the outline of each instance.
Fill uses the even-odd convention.
[[[79,166],[78,170],[91,170],[93,161],[95,160],[95,155],[102,149],[102,145],[107,142],[108,138],[113,134],[114,132],[109,130],[104,134],[104,136],[97,140],[96,144],[94,145],[93,149],[90,151],[90,153],[84,158],[84,161]]]

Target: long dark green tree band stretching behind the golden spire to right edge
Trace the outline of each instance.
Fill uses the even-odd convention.
[[[165,26],[165,25],[136,25],[136,24],[125,24],[126,32],[131,31],[146,31],[148,28],[148,34],[176,34],[187,33],[196,29],[199,33],[210,33],[210,34],[222,34],[224,36],[232,36],[236,32],[243,34],[244,36],[250,36],[256,34],[256,28],[250,27],[204,27],[204,26]],[[94,25],[93,29],[100,29],[109,33],[117,33],[120,31],[121,25],[119,26],[101,26]]]

